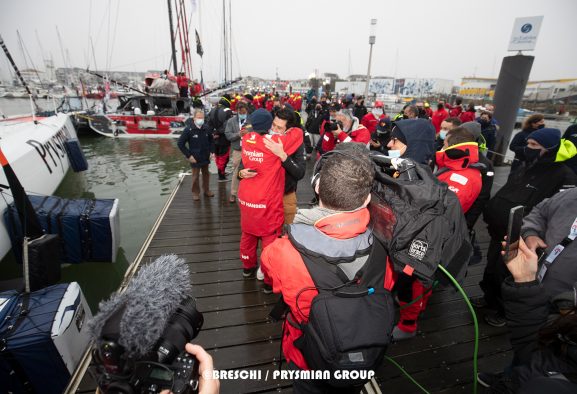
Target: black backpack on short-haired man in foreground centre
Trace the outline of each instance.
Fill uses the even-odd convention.
[[[384,245],[374,239],[367,261],[351,281],[337,265],[342,259],[310,252],[294,242],[290,230],[288,235],[318,291],[308,323],[300,324],[303,335],[295,346],[312,370],[330,372],[330,385],[365,384],[371,378],[369,371],[378,369],[383,361],[395,322],[393,299],[384,289]]]

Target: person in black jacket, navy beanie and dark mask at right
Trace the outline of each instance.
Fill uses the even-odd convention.
[[[484,296],[473,299],[476,307],[489,306],[496,315],[485,315],[485,321],[493,326],[505,325],[501,283],[507,270],[501,257],[501,240],[507,232],[509,211],[517,205],[525,206],[525,215],[531,209],[557,193],[575,187],[577,176],[556,156],[561,142],[561,131],[540,129],[527,138],[525,162],[518,171],[509,176],[507,183],[489,201],[483,212],[491,242],[487,251],[487,266],[479,283]]]

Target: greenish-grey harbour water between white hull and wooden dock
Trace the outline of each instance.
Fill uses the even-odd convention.
[[[80,141],[89,168],[82,173],[70,171],[55,195],[118,198],[120,208],[121,240],[116,263],[62,266],[61,281],[80,283],[95,312],[98,302],[120,285],[176,185],[178,174],[189,167],[172,139],[127,140],[81,134]],[[18,276],[21,266],[10,253],[0,262],[0,279]]]

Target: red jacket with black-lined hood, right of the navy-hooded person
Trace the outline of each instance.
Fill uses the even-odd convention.
[[[476,142],[453,145],[438,151],[435,160],[439,167],[437,178],[449,185],[449,190],[457,195],[463,213],[466,213],[479,196],[483,185],[481,171],[469,168],[469,165],[479,161],[479,146]]]

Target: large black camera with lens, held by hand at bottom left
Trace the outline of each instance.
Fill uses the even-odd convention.
[[[98,387],[105,393],[175,394],[198,392],[198,361],[184,351],[204,323],[194,298],[186,298],[168,318],[166,328],[153,349],[143,357],[129,355],[119,343],[120,320],[125,312],[114,312],[97,338],[90,368]]]

